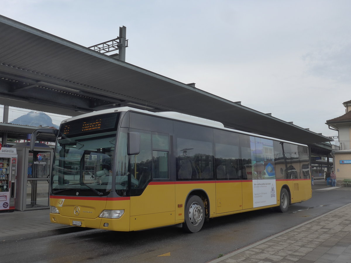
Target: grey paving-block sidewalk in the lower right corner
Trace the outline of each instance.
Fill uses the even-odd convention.
[[[210,262],[351,263],[351,203]]]

